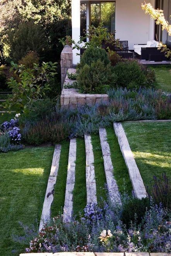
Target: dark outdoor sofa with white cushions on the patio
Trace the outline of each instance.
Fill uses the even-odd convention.
[[[147,44],[134,45],[134,53],[141,60],[149,61],[167,61],[164,52],[158,50],[159,42],[155,40],[148,41]]]

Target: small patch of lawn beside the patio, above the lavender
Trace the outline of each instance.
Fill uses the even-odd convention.
[[[157,87],[171,93],[171,65],[152,66],[156,73]]]

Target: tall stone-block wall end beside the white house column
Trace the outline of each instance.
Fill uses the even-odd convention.
[[[61,52],[61,88],[63,88],[63,83],[67,74],[68,68],[72,67],[72,47],[65,45]]]

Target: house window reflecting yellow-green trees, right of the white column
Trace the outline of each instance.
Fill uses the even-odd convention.
[[[91,2],[91,25],[103,22],[109,32],[115,31],[115,2]]]

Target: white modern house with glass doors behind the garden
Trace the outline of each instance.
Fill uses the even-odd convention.
[[[97,26],[103,22],[116,38],[127,40],[133,50],[134,44],[146,44],[149,40],[158,40],[171,45],[171,36],[161,30],[154,20],[141,9],[143,0],[72,0],[72,39],[78,42],[80,35],[86,33],[89,25]],[[148,0],[154,8],[164,10],[165,18],[170,22],[171,0]],[[88,38],[87,38],[88,40]],[[79,51],[73,50],[73,64],[80,61]]]

